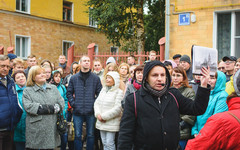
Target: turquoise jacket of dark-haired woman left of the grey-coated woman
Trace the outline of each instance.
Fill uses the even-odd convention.
[[[14,129],[14,141],[15,142],[25,142],[25,131],[26,131],[26,111],[23,108],[22,104],[22,95],[23,90],[26,88],[26,86],[20,88],[18,85],[16,85],[16,90],[18,94],[18,102],[22,106],[23,113],[20,121],[17,124],[17,127]]]

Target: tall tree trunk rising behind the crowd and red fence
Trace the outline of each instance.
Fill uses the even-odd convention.
[[[138,54],[140,55],[142,52],[144,52],[144,43],[145,43],[145,37],[144,37],[144,22],[143,22],[143,0],[138,0],[138,3],[140,4],[140,7],[137,9],[138,13],[138,20],[137,20],[137,49]],[[143,60],[139,57],[138,58],[138,64],[142,62]]]

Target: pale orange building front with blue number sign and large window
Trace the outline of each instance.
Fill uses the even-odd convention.
[[[170,0],[169,57],[192,45],[240,57],[240,0]]]

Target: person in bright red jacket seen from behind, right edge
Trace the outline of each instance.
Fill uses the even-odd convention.
[[[227,98],[229,111],[213,115],[185,150],[240,149],[240,70],[233,79],[235,92]]]

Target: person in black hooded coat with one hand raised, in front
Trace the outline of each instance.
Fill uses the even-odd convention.
[[[171,88],[171,77],[160,61],[145,65],[142,87],[126,98],[120,124],[118,150],[177,149],[180,113],[203,114],[207,108],[210,88],[209,70],[202,69],[202,84],[195,101]],[[136,104],[136,106],[135,106]]]

